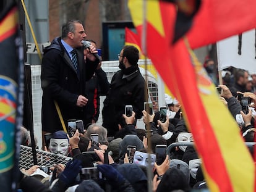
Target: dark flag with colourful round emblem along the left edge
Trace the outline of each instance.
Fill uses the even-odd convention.
[[[17,6],[5,8],[0,15],[0,188],[14,191],[20,174],[15,136],[23,115],[23,52]]]

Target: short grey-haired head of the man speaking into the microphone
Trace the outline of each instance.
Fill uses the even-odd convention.
[[[82,22],[79,20],[69,20],[62,26],[61,38],[72,48],[81,47],[81,41],[84,40],[86,36]]]

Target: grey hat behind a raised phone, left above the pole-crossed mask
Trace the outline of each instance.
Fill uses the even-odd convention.
[[[144,148],[143,142],[137,135],[126,135],[124,139],[119,143],[119,159],[124,159],[124,154],[127,152],[128,145],[135,145],[136,150]]]

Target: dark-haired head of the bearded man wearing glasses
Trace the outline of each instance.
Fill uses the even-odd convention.
[[[126,69],[132,65],[137,65],[139,61],[139,50],[135,46],[124,46],[119,54],[119,68]]]

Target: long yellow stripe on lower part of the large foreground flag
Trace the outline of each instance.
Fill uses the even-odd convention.
[[[195,65],[197,79],[202,80],[202,76],[208,78],[202,64],[198,62],[194,52],[191,50],[190,55]],[[199,76],[201,77],[198,78]],[[254,162],[248,149],[245,148],[244,140],[242,139],[236,121],[228,111],[228,108],[224,106],[218,98],[213,83],[211,83],[210,86],[205,86],[206,84],[202,81],[198,81],[197,83],[200,90],[200,98],[205,106],[208,119],[210,120],[211,127],[213,127],[213,132],[218,141],[218,148],[221,150],[221,156],[228,170],[233,191],[254,191]],[[216,146],[210,145],[211,143],[209,142],[208,147],[213,148],[214,151]],[[234,149],[236,149],[236,151],[234,151]],[[215,156],[215,154],[213,154],[213,156]],[[208,182],[208,185],[216,184]]]

